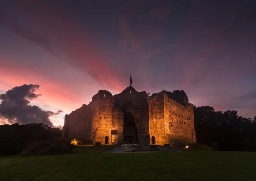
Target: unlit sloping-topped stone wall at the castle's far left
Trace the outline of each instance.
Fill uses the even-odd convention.
[[[81,138],[90,141],[91,105],[83,105],[79,109],[65,115],[63,136]]]

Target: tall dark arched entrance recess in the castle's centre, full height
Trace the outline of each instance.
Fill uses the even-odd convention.
[[[137,120],[131,112],[124,114],[124,143],[134,144],[138,142]]]

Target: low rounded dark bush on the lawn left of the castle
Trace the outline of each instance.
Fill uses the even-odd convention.
[[[29,155],[58,155],[69,154],[73,151],[73,145],[70,141],[65,141],[60,138],[51,138],[45,141],[37,141],[30,144],[20,157]]]

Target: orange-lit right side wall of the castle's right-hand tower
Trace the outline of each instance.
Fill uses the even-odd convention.
[[[172,146],[185,146],[195,141],[193,106],[182,106],[164,93],[166,139]]]

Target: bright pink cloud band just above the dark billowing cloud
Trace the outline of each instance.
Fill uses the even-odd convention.
[[[38,89],[37,94],[42,94],[42,96],[32,101],[32,103],[36,103],[38,106],[47,104],[50,108],[49,110],[58,108],[63,110],[65,114],[70,113],[84,103],[72,87],[63,85],[47,77],[47,75],[43,75],[22,65],[9,64],[7,63],[9,59],[3,57],[3,55],[0,55],[0,59],[5,60],[0,67],[0,89],[7,91],[23,84],[38,84],[40,85],[40,89]],[[59,122],[61,121],[59,120]]]

